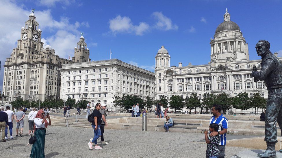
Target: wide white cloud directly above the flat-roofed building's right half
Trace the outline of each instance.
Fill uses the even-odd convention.
[[[110,19],[110,29],[114,35],[116,33],[135,33],[142,36],[149,29],[149,25],[145,22],[140,22],[139,25],[133,25],[129,17],[120,15],[114,19]]]

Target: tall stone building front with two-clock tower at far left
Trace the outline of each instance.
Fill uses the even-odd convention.
[[[60,71],[68,60],[55,55],[50,45],[43,47],[41,30],[33,13],[21,28],[21,39],[4,64],[3,93],[8,101],[50,100],[60,96]],[[73,63],[70,61],[70,63]]]

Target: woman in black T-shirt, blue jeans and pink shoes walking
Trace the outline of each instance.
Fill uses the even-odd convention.
[[[101,108],[101,104],[97,103],[95,105],[95,109],[93,111],[94,121],[92,122],[92,128],[94,129],[94,137],[93,137],[93,139],[90,139],[90,142],[88,143],[89,148],[93,149],[92,145],[93,145],[93,142],[94,142],[94,144],[95,144],[94,149],[95,150],[102,149],[97,144],[97,139],[99,137],[101,137],[101,127],[100,127],[100,125],[102,123],[102,114],[99,112],[100,108]]]

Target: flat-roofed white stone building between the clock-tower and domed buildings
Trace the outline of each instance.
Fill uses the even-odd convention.
[[[114,96],[155,98],[154,73],[118,59],[65,64],[60,71],[62,100],[88,100],[92,107],[97,102],[106,103],[110,111],[115,111]]]

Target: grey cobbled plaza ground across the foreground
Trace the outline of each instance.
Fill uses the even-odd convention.
[[[105,130],[105,140],[109,144],[101,145],[102,150],[90,150],[87,142],[93,135],[90,128],[49,126],[45,141],[46,158],[205,157],[207,148],[204,142],[199,142],[205,138],[204,134]],[[27,145],[28,139],[24,136],[0,142],[0,157],[29,157],[31,145]],[[101,141],[100,138],[98,141]],[[244,149],[227,146],[226,157]]]

